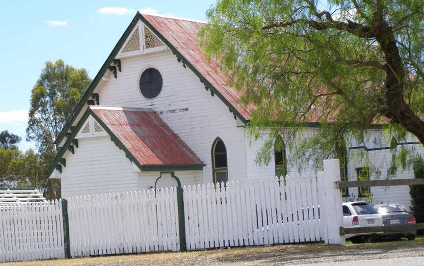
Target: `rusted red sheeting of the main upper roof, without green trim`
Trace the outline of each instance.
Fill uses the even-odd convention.
[[[228,77],[219,71],[218,64],[213,59],[208,61],[205,53],[198,47],[196,35],[204,23],[146,14],[142,16],[236,108],[245,120],[250,119],[250,112],[255,107],[240,104],[241,93],[227,85]]]

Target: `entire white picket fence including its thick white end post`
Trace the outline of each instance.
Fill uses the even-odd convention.
[[[183,186],[186,248],[344,244],[335,181],[339,161],[324,160],[318,179],[310,173]],[[1,206],[0,262],[64,258],[66,216],[72,257],[181,250],[177,194],[168,187],[71,197],[67,212],[61,200]]]

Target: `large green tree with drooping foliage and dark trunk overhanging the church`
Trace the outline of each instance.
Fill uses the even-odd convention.
[[[296,148],[321,158],[375,123],[424,143],[423,0],[220,0],[207,17],[201,45],[257,106],[252,126],[289,140],[319,122]]]

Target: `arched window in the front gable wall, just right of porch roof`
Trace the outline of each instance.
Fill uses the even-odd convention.
[[[219,137],[212,144],[212,167],[214,184],[228,181],[227,149]]]

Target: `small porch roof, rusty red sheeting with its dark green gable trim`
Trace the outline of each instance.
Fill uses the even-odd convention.
[[[201,170],[205,166],[152,109],[89,106],[50,165],[49,177],[57,166],[62,168],[61,158],[90,115],[141,171]],[[71,150],[78,153],[78,148]]]

